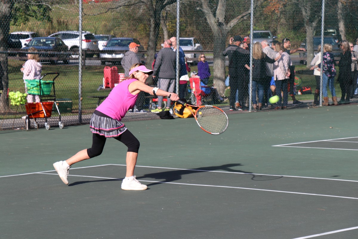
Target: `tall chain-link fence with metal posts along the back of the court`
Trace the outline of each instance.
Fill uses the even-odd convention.
[[[39,57],[41,81],[54,82],[48,89],[51,97],[42,96],[40,101],[55,101],[60,112],[54,105],[50,117],[34,117],[37,125],[32,119],[31,127],[43,127],[45,123],[57,126],[59,121],[64,125],[83,124],[122,80],[121,60],[129,44],[140,45],[137,56],[152,68],[164,40],[176,36],[177,30],[188,76],[193,71],[204,74],[202,63],[208,62],[210,76],[205,83],[215,87],[213,91],[224,100],[214,101],[213,94],[203,93],[205,104],[237,113],[357,102],[357,1],[182,0],[179,6],[177,11],[176,0],[1,1],[0,130],[23,129],[24,116],[34,113],[26,110],[29,100],[24,95],[25,80],[32,80],[23,72],[29,56]],[[276,81],[271,82],[272,72],[257,78],[255,69],[262,55],[257,53],[255,43],[262,41],[272,48],[278,44],[282,52],[289,52],[281,54],[277,66],[272,63],[274,69],[282,68],[280,64],[285,63],[279,62],[290,58],[295,68],[290,67],[288,75],[284,72],[283,79],[275,73]],[[248,54],[224,56],[230,43],[246,48]],[[324,48],[319,48],[322,43]],[[36,50],[31,52],[29,48]],[[335,76],[327,74],[332,64],[325,61],[325,52],[334,57],[331,63]],[[234,66],[236,63],[247,64],[250,70]],[[241,70],[233,71],[235,67]],[[227,83],[229,72],[236,75],[231,75]],[[152,78],[147,83],[156,84]],[[282,104],[270,104],[273,95],[278,95]],[[185,97],[196,102],[189,82]],[[137,111],[142,112],[127,113],[124,121],[159,118],[150,112],[157,107],[153,97],[143,94],[137,103]]]

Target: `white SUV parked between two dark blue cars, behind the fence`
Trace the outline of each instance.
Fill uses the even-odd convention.
[[[68,46],[70,51],[78,51],[79,49],[79,32],[78,31],[62,31],[49,35],[49,37],[58,37]],[[82,32],[82,49],[99,51],[98,40],[90,32]],[[86,54],[87,57],[93,57],[93,54]],[[78,57],[74,56],[73,57]]]

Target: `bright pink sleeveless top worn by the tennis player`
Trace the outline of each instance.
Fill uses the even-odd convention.
[[[108,97],[100,104],[96,110],[113,119],[121,121],[129,109],[132,109],[138,98],[138,95],[132,95],[128,86],[136,79],[122,81],[115,86]]]

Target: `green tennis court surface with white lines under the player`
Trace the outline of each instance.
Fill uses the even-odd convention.
[[[123,191],[126,147],[91,147],[88,125],[0,134],[0,238],[358,238],[358,105],[228,112],[210,135],[193,118],[126,122],[141,143]]]

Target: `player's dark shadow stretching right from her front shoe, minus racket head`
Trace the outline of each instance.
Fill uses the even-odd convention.
[[[148,173],[141,177],[137,177],[137,179],[144,178],[153,178],[155,180],[161,180],[160,182],[154,182],[150,183],[147,186],[153,186],[160,183],[165,182],[173,182],[182,179],[183,175],[188,175],[192,173],[205,173],[205,172],[211,172],[211,171],[227,171],[227,172],[235,172],[235,173],[247,173],[252,174],[251,172],[245,172],[241,170],[232,169],[232,167],[242,166],[241,163],[230,163],[230,164],[224,164],[221,166],[211,166],[211,167],[200,167],[200,168],[192,168],[192,169],[178,169],[178,170],[172,170],[172,171],[165,171],[165,172],[158,172],[158,173]]]

